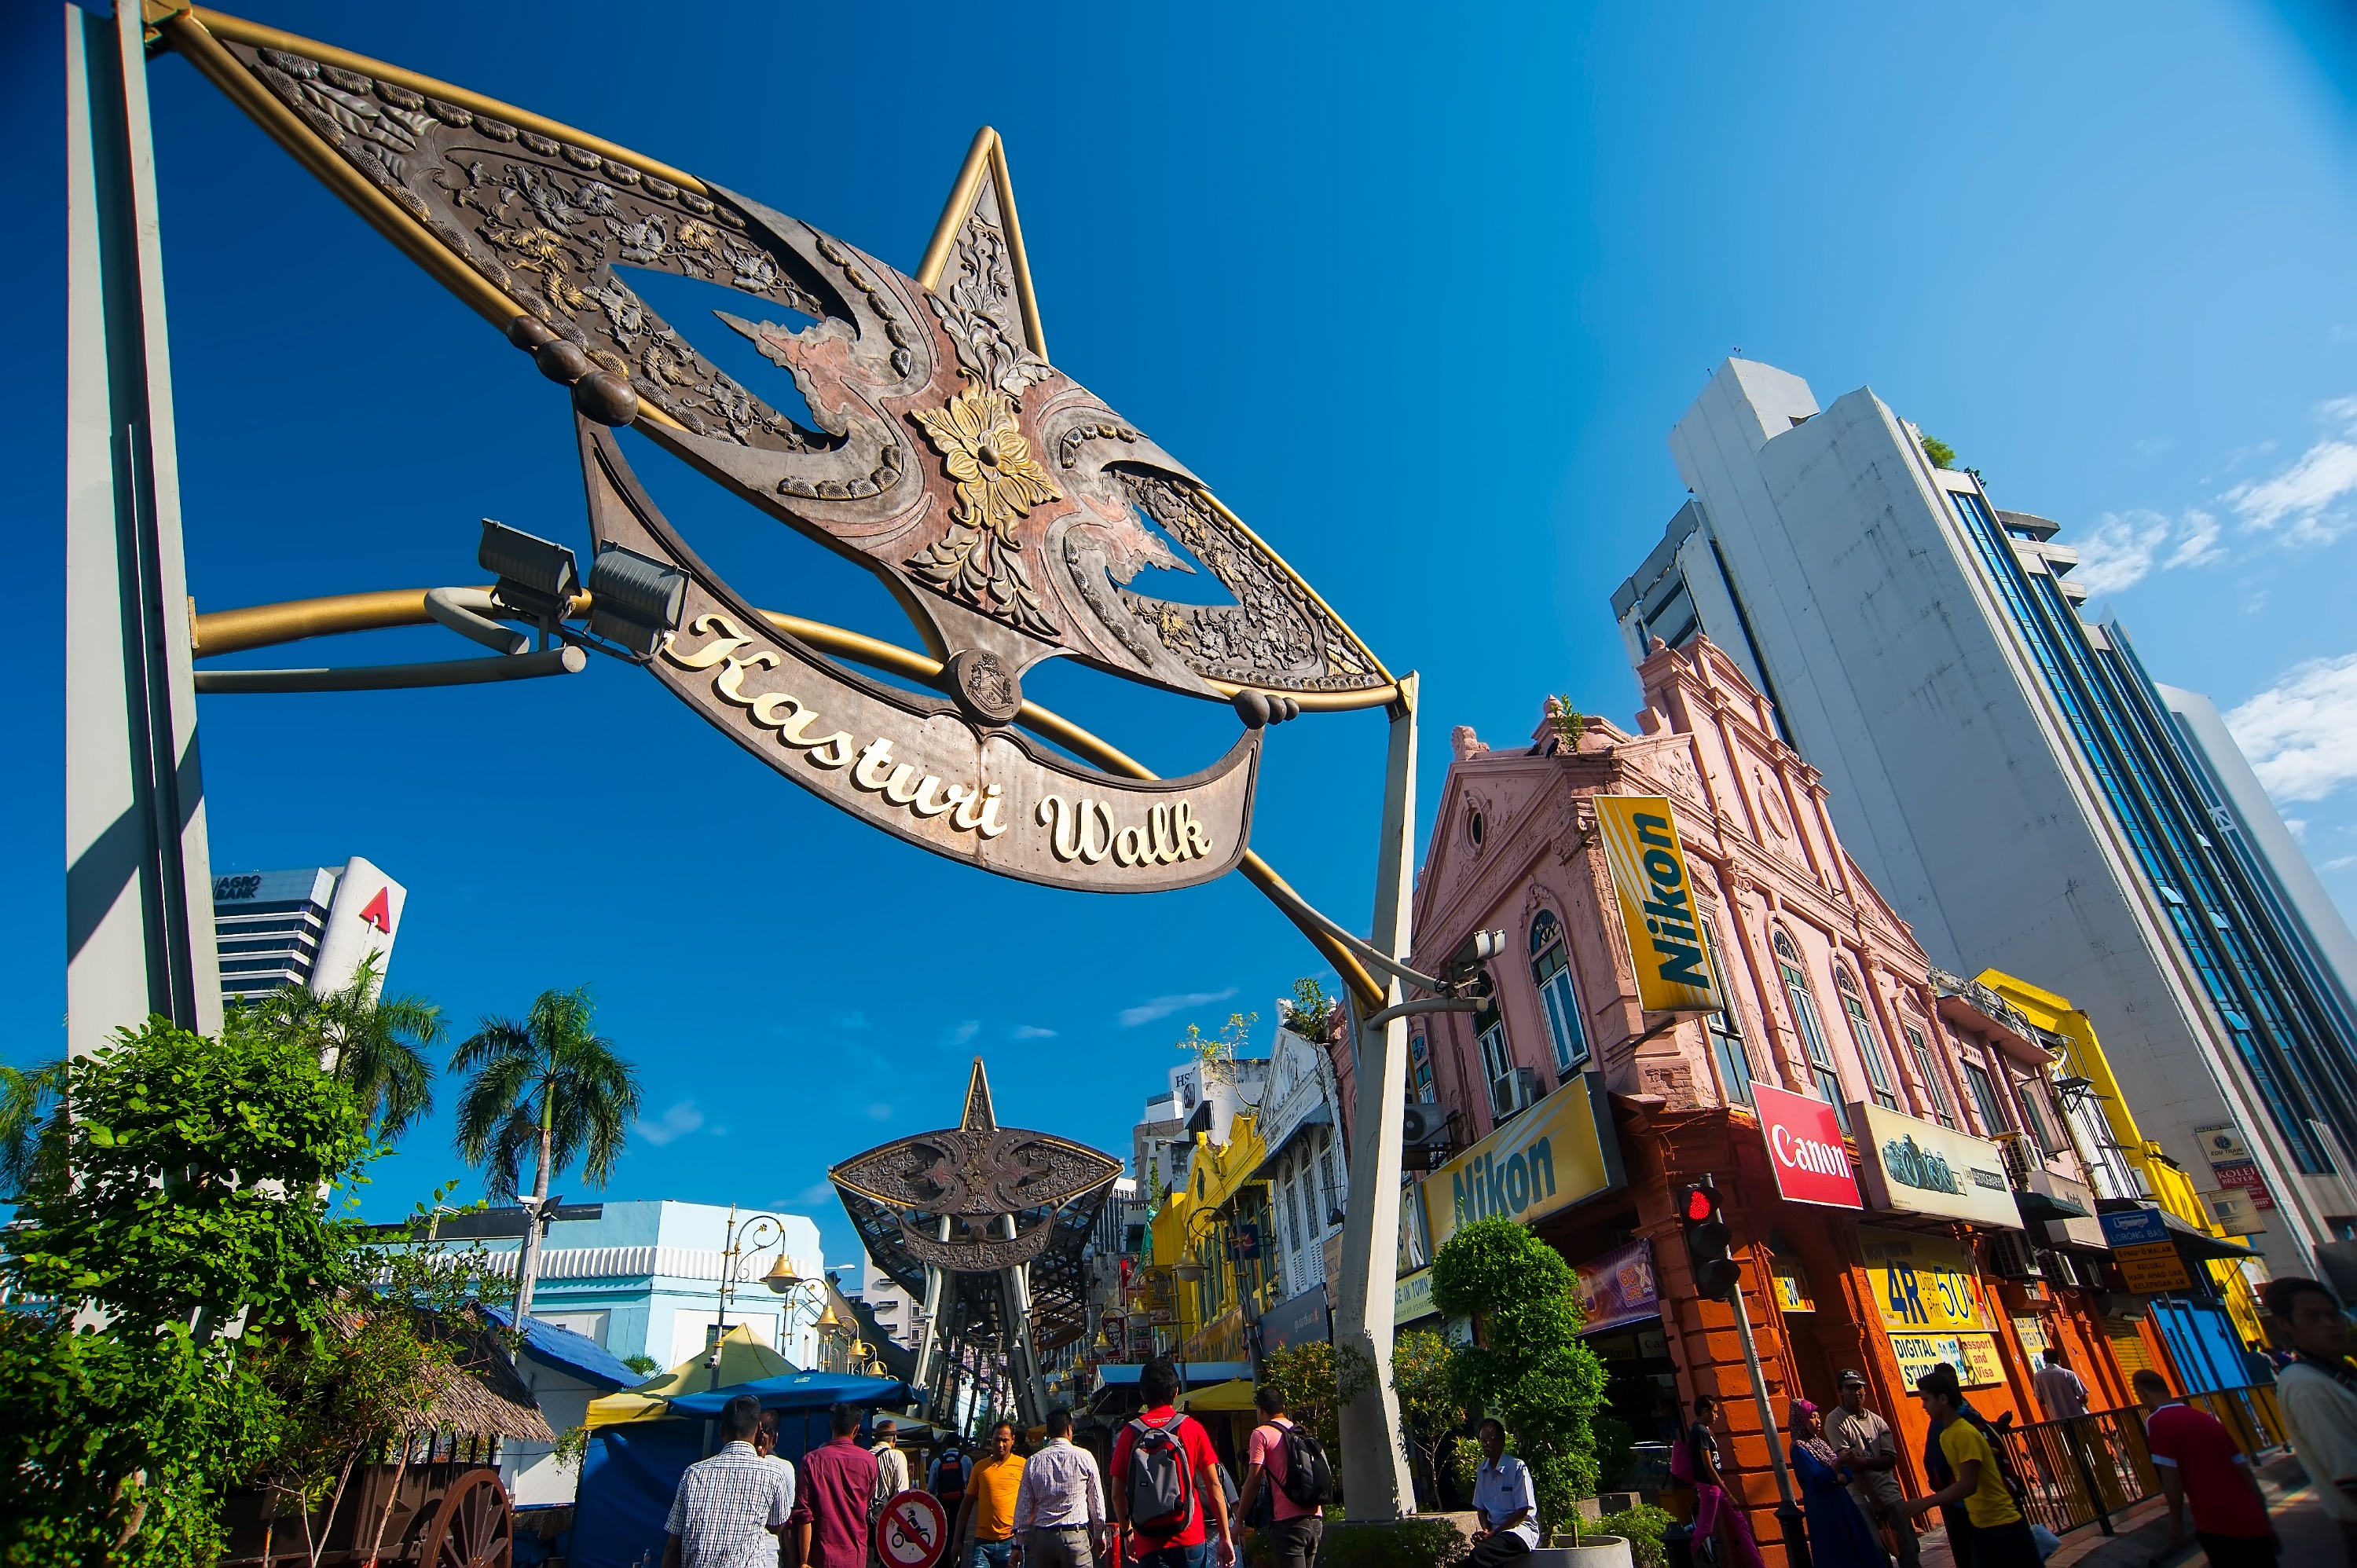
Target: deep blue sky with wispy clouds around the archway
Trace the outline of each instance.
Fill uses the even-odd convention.
[[[594,130],[912,266],[981,123],[1058,365],[1204,474],[1447,733],[1636,705],[1605,597],[1683,500],[1669,424],[1730,349],[1871,384],[2041,512],[2164,681],[2239,710],[2357,905],[2357,118],[2319,12],[2237,5],[544,9],[255,0],[255,19]],[[61,97],[9,7],[12,618],[57,646]],[[561,394],[181,61],[153,71],[189,578],[203,608],[469,582],[478,516],[580,540]],[[691,328],[693,330],[693,328]],[[907,639],[884,594],[676,467],[761,604]],[[441,658],[377,634],[339,663]],[[304,651],[309,658],[309,651]],[[0,1019],[61,1047],[61,681],[0,691]],[[1032,696],[1162,771],[1223,710],[1077,670]],[[2272,693],[2272,696],[2270,696]],[[1381,722],[1275,731],[1256,846],[1367,917]],[[955,1115],[1127,1151],[1188,1021],[1315,955],[1240,879],[990,879],[830,813],[653,686],[205,698],[217,870],[365,854],[394,986],[464,1028],[589,981],[643,1068],[608,1195],[785,1205]],[[445,1089],[445,1101],[450,1092]],[[436,1120],[377,1207],[457,1172]],[[580,1181],[563,1181],[580,1191]]]

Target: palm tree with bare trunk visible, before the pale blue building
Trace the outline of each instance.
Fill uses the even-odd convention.
[[[594,1033],[589,988],[542,990],[523,1023],[483,1019],[450,1054],[471,1073],[457,1101],[457,1151],[483,1167],[493,1198],[516,1195],[523,1153],[533,1151],[533,1219],[549,1200],[549,1177],[577,1158],[592,1186],[606,1186],[629,1125],[639,1118],[639,1070]],[[516,1323],[533,1311],[540,1226],[523,1226]]]

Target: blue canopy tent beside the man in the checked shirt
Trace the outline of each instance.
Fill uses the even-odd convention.
[[[907,1401],[907,1384],[898,1377],[792,1372],[681,1394],[669,1401],[660,1419],[599,1427],[589,1434],[580,1502],[573,1504],[570,1561],[577,1568],[662,1561],[662,1526],[672,1514],[672,1493],[679,1490],[688,1467],[705,1457],[707,1424],[738,1394],[752,1394],[764,1410],[778,1412],[778,1455],[799,1460],[827,1441],[827,1412],[834,1405],[858,1410],[898,1405]]]

